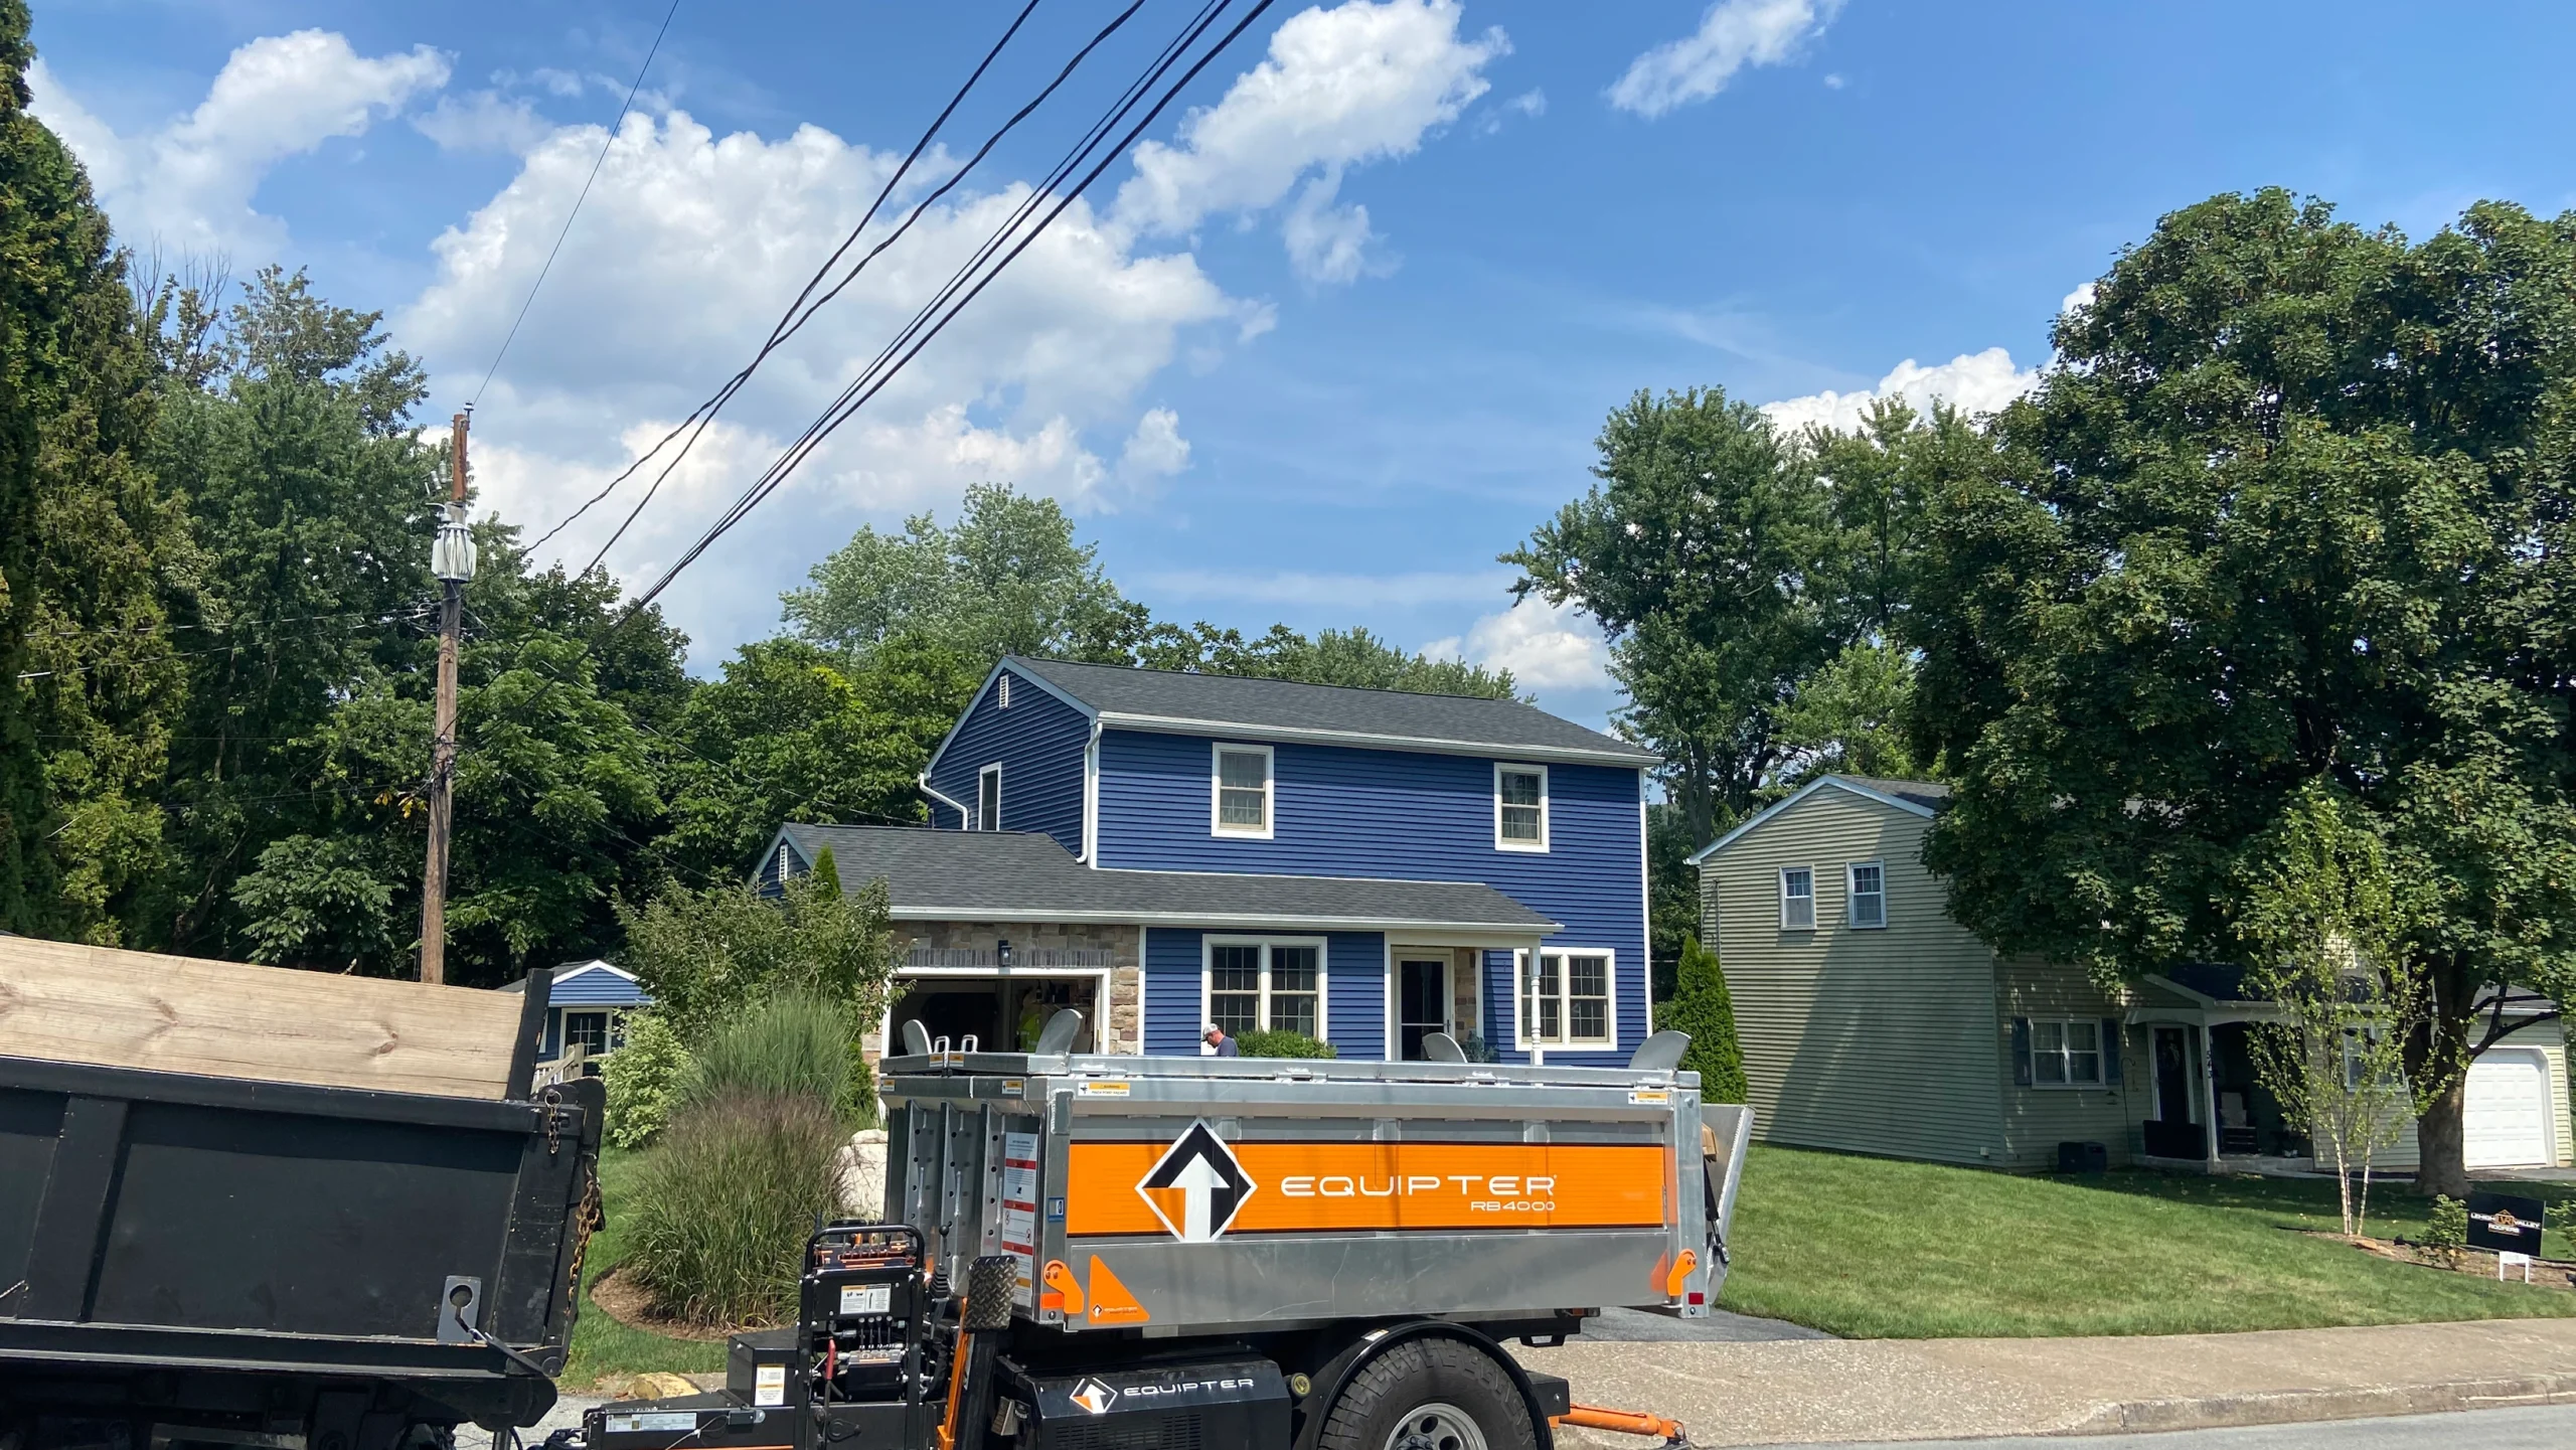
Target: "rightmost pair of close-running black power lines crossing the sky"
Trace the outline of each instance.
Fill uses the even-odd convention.
[[[971,304],[987,286],[992,286],[992,281],[1002,276],[1002,270],[1010,268],[1010,263],[1018,260],[1020,252],[1025,252],[1056,221],[1056,216],[1064,214],[1066,206],[1072,206],[1084,191],[1090,191],[1090,185],[1100,180],[1100,175],[1110,167],[1110,162],[1126,155],[1126,149],[1136,144],[1144,129],[1151,126],[1162,116],[1162,111],[1170,108],[1170,103],[1193,80],[1198,80],[1198,72],[1213,64],[1216,57],[1221,57],[1270,8],[1270,3],[1273,0],[1255,0],[1255,5],[1244,13],[1244,18],[1236,21],[1234,28],[1216,41],[1216,46],[1211,46],[1203,57],[1198,57],[1198,62],[1190,64],[1190,70],[1182,72],[1182,77],[1172,82],[1133,126],[1128,126],[1128,131],[1118,139],[1115,147],[1100,155],[1100,160],[1082,175],[1082,180],[1077,180],[1069,191],[1064,191],[1056,206],[1048,209],[1046,216],[1041,216],[1036,227],[1028,229],[1025,237],[1010,245],[1010,250],[1002,252],[999,260],[992,260],[999,245],[1010,240],[1010,234],[1018,232],[1018,227],[1033,211],[1033,203],[1051,193],[1051,185],[1036,188],[1030,193],[1030,201],[1025,201],[1023,209],[1015,211],[974,258],[969,258],[969,263],[948,281],[948,286],[940,288],[940,294],[933,296],[902,332],[896,332],[896,337],[886,345],[886,350],[878,353],[878,358],[868,363],[868,368],[860,371],[860,376],[853,379],[848,389],[842,389],[840,399],[835,399],[835,404],[827,407],[822,417],[817,417],[806,428],[806,433],[796,443],[791,443],[778,456],[778,461],[770,464],[752,482],[752,487],[744,489],[742,497],[734,500],[734,505],[714,525],[708,525],[708,531],[698,536],[698,541],[670,569],[662,572],[662,577],[649,590],[636,595],[626,605],[626,613],[621,613],[611,628],[618,628],[629,618],[634,618],[662,590],[667,590],[670,582],[677,579],[683,569],[696,564],[698,556],[703,556],[706,549],[716,543],[716,538],[721,538],[726,531],[742,523],[742,518],[747,518],[755,507],[760,507],[760,502],[765,502],[773,492],[778,492],[778,487],[788,479],[788,474],[793,474],[796,466],[811,458],[824,438],[829,438],[840,425],[855,417],[858,410],[868,404],[868,399],[884,391],[886,384],[894,381],[894,376],[902,373],[902,368],[912,363],[912,358],[917,358],[922,348],[927,348],[930,340],[938,337],[948,327],[948,322],[958,317],[958,312],[966,309],[966,304]],[[1164,54],[1157,59],[1154,67],[1149,67],[1149,72],[1139,80],[1139,85],[1133,85],[1128,95],[1108,116],[1103,116],[1100,124],[1092,126],[1092,131],[1074,147],[1074,152],[1066,155],[1066,160],[1059,165],[1056,173],[1059,178],[1069,175],[1074,167],[1079,167],[1084,157],[1100,149],[1097,147],[1100,137],[1108,129],[1113,129],[1126,113],[1131,113],[1146,90],[1159,85],[1164,75],[1170,75],[1172,64],[1177,64],[1177,59],[1188,54],[1188,49],[1195,46],[1200,36],[1206,36],[1206,31],[1216,23],[1216,18],[1224,13],[1226,5],[1231,5],[1231,0],[1211,0],[1208,8],[1200,10],[1200,18],[1190,28],[1185,28],[1172,46],[1164,49]],[[992,260],[989,268],[984,268],[987,260]],[[981,270],[981,276],[976,276],[976,270]],[[966,286],[966,278],[976,278],[974,286]],[[958,294],[961,286],[963,294]],[[945,312],[940,312],[943,306]],[[896,355],[896,350],[902,350],[902,355]]]

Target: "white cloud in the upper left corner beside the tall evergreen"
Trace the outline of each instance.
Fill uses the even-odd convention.
[[[332,31],[263,36],[232,52],[206,100],[167,126],[118,137],[72,100],[52,72],[31,75],[36,116],[90,170],[116,232],[175,250],[281,250],[286,224],[250,201],[276,162],[332,137],[361,137],[425,90],[448,82],[430,46],[361,57]]]

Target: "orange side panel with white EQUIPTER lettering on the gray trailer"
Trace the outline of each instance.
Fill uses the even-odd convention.
[[[1669,1221],[1667,1151],[1625,1144],[1226,1144],[1252,1180],[1231,1234],[1625,1229]],[[1167,1144],[1072,1144],[1066,1234],[1164,1234],[1136,1185]],[[1164,1190],[1172,1195],[1175,1190]],[[1175,1221],[1180,1203],[1164,1208]],[[1095,1288],[1097,1298],[1097,1288]]]

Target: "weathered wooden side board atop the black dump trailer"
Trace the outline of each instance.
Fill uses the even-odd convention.
[[[0,937],[0,1056],[507,1097],[523,999]]]

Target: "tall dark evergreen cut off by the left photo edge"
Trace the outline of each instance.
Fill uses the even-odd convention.
[[[160,574],[185,528],[142,466],[152,350],[0,0],[0,927],[118,940],[160,863],[180,703]]]

